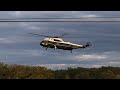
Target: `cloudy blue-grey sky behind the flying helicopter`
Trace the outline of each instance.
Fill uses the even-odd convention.
[[[0,11],[4,18],[80,18],[119,17],[120,11]],[[92,47],[66,50],[45,50],[38,33],[80,38],[64,41],[81,44],[89,41]],[[45,66],[52,70],[68,67],[120,66],[120,22],[0,22],[0,62]]]

